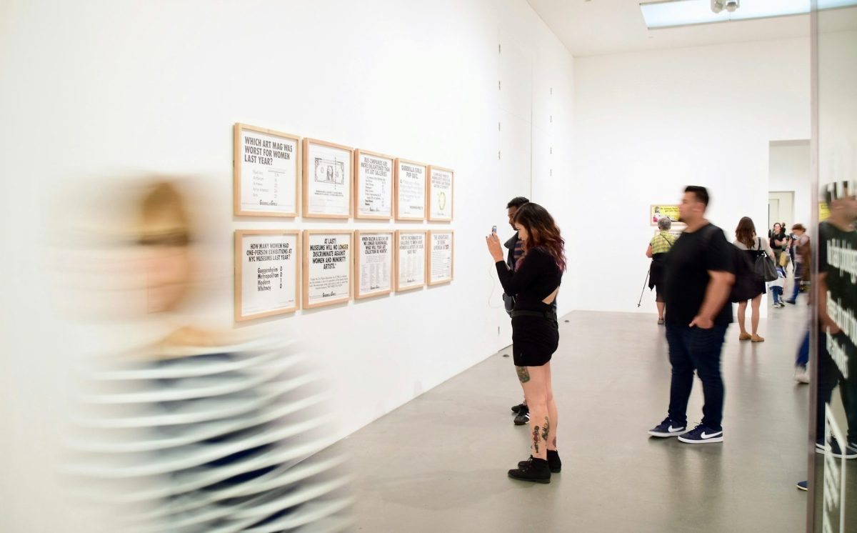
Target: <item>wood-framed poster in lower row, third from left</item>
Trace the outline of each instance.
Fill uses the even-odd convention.
[[[354,276],[357,299],[393,291],[393,231],[355,231]]]

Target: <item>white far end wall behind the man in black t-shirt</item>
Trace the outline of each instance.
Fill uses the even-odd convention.
[[[764,228],[769,143],[810,136],[809,40],[577,57],[574,81],[575,308],[653,313],[650,205],[704,185],[730,241]]]

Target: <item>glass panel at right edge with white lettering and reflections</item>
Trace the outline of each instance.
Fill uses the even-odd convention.
[[[818,224],[812,280],[818,455],[810,489],[813,530],[838,533],[857,528],[857,8],[817,16],[818,201],[830,215]]]

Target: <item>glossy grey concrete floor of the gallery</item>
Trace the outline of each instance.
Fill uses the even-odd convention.
[[[725,442],[654,439],[668,404],[653,314],[560,319],[552,362],[563,470],[548,485],[506,476],[529,455],[511,348],[352,434],[360,531],[802,531],[807,386],[793,379],[806,307],[770,309],[766,342],[727,332]],[[438,356],[455,356],[449,351]],[[702,417],[694,384],[688,421]]]

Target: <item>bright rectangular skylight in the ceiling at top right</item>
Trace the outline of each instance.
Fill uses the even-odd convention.
[[[818,9],[849,5],[857,5],[857,0],[818,0]],[[646,26],[659,28],[802,15],[810,12],[810,0],[740,0],[738,9],[720,13],[711,10],[711,0],[661,0],[641,3],[640,9]]]

